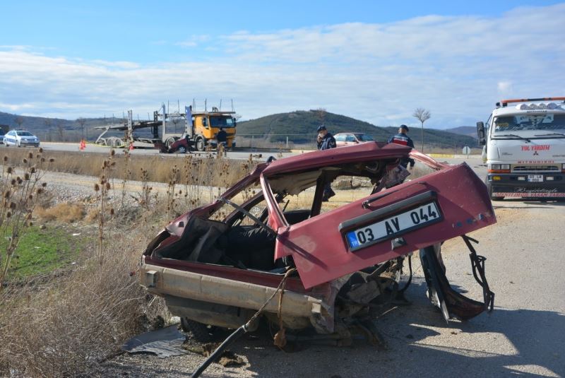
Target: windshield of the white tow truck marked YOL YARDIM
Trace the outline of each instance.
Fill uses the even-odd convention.
[[[496,117],[493,126],[495,133],[564,130],[565,114],[516,114]]]

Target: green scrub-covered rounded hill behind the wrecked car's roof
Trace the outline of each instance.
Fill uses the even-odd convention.
[[[289,141],[295,143],[312,143],[316,137],[316,128],[321,124],[319,113],[316,110],[297,110],[295,112],[271,114],[258,119],[239,122],[237,134],[240,136],[256,136],[268,140]],[[344,131],[355,131],[369,134],[377,141],[386,141],[391,135],[396,134],[396,127],[379,127],[369,122],[346,117],[340,114],[326,112],[324,124],[333,134]],[[412,128],[410,138],[416,146],[422,143],[420,128]],[[424,127],[424,141],[427,145],[439,148],[459,148],[463,146],[477,147],[477,141],[471,136],[454,134],[452,132],[427,129]]]

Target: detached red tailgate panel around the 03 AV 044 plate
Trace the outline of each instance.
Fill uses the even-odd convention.
[[[496,223],[484,184],[465,163],[405,182],[388,191],[392,193],[387,196],[377,193],[367,197],[370,199],[381,196],[369,208],[362,206],[366,199],[361,199],[281,230],[275,258],[292,255],[304,287],[311,288],[347,273]],[[350,251],[344,236],[347,230],[339,230],[341,223],[427,192],[436,194],[435,201],[443,215],[441,221],[406,232],[402,235],[406,245],[396,249],[391,247],[391,240],[388,239],[355,252]],[[402,211],[398,208],[379,219]],[[362,223],[352,229],[358,227],[362,227]]]

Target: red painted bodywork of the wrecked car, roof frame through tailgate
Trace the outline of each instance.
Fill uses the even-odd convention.
[[[398,164],[397,159],[403,158],[408,154],[412,158],[439,171],[367,196],[364,199],[348,203],[345,206],[340,206],[333,211],[316,215],[314,218],[304,220],[296,225],[289,225],[287,223],[268,185],[269,177],[276,177],[279,174],[287,174],[288,172],[314,170],[328,165],[384,159],[389,160],[393,168]],[[496,223],[496,217],[487,194],[487,189],[468,165],[463,163],[462,165],[452,166],[438,163],[416,150],[410,152],[410,148],[396,144],[383,145],[383,143],[379,142],[360,143],[356,146],[314,151],[283,160],[276,160],[269,164],[260,164],[254,172],[251,172],[251,174],[241,179],[237,184],[234,184],[222,197],[230,199],[257,180],[261,181],[263,194],[269,209],[267,223],[278,233],[275,244],[275,259],[289,255],[293,257],[300,280],[290,280],[289,285],[292,287],[292,290],[297,291],[309,290],[316,285],[328,283],[331,280],[359,271],[367,266],[379,264],[417,249]],[[391,240],[384,240],[369,247],[357,249],[355,252],[350,251],[344,237],[348,229],[340,230],[342,223],[422,194],[433,196],[433,201],[437,203],[443,216],[441,221],[399,235],[406,242],[401,247],[393,248]],[[371,202],[367,208],[362,206],[364,201],[374,198],[376,200]],[[162,238],[157,237],[154,243],[150,244],[148,249],[145,250],[145,262],[275,287],[280,282],[281,276],[273,273],[242,270],[228,266],[190,263],[188,261],[164,261],[153,257],[152,252],[155,249],[165,247],[179,240],[182,232],[184,232],[184,225],[187,224],[191,216],[201,215],[206,217],[217,208],[223,206],[223,204],[222,201],[215,201],[175,219],[167,226],[166,231],[162,232]],[[386,218],[388,215],[394,215],[406,210],[410,210],[410,206],[398,208],[390,214],[383,215],[383,217]],[[369,223],[374,222],[375,220],[371,220]],[[362,226],[361,223],[359,225]],[[320,289],[323,290],[325,286],[321,285]]]

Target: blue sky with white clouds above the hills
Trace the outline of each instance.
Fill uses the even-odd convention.
[[[0,111],[47,117],[234,100],[379,126],[474,124],[565,95],[558,1],[3,1]],[[455,4],[454,4],[455,3]]]

